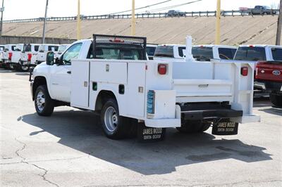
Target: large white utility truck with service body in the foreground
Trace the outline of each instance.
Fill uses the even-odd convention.
[[[190,37],[188,37],[188,40]],[[188,44],[191,44],[189,41]],[[75,41],[59,59],[30,75],[38,115],[70,105],[101,115],[104,134],[125,138],[140,133],[159,138],[163,128],[232,135],[238,123],[259,122],[252,113],[252,63],[147,60],[146,38],[94,34]]]

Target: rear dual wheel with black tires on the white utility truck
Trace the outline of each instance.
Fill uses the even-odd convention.
[[[116,99],[107,99],[102,108],[101,122],[104,134],[108,138],[123,139],[128,137],[128,132],[131,129],[130,118],[119,115]]]

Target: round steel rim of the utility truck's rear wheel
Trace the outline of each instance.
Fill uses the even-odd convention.
[[[104,123],[108,131],[115,131],[118,127],[118,113],[114,107],[109,107],[106,109],[104,114]]]

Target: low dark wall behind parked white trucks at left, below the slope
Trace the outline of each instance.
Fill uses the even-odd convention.
[[[75,39],[61,39],[61,38],[46,38],[46,44],[71,44]],[[16,37],[16,36],[2,36],[0,37],[0,44],[41,44],[42,37]]]

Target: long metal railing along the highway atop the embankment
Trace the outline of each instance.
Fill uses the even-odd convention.
[[[222,16],[245,16],[245,15],[277,15],[279,9],[260,10],[248,9],[243,11],[221,11]],[[183,12],[178,15],[170,15],[168,13],[137,13],[136,18],[171,18],[171,17],[195,17],[195,16],[215,16],[216,11],[197,11],[197,12]],[[66,21],[76,20],[77,16],[70,17],[50,17],[47,21]],[[81,15],[82,20],[101,20],[101,19],[128,19],[131,18],[131,14],[109,14],[109,15]],[[19,20],[4,20],[4,22],[40,22],[44,21],[44,18],[32,18],[32,19],[19,19]]]

